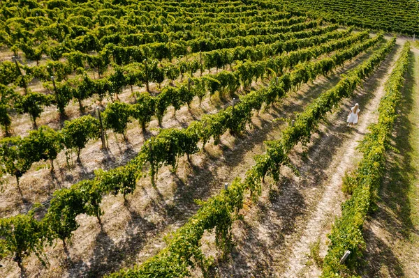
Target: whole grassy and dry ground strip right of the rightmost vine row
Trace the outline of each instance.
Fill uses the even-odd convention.
[[[419,45],[418,45],[419,46]],[[419,277],[419,49],[412,48],[376,211],[364,226],[362,277]]]

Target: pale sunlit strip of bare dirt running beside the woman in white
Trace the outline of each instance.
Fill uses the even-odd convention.
[[[368,132],[367,127],[370,123],[377,121],[378,114],[376,113],[381,98],[384,95],[384,83],[394,68],[394,63],[397,61],[399,53],[393,56],[391,64],[388,68],[386,75],[384,75],[380,82],[380,86],[374,92],[374,98],[364,106],[362,113],[360,114],[360,123],[357,126],[353,136],[346,140],[339,150],[339,155],[333,160],[330,165],[334,171],[328,171],[332,173],[329,180],[325,181],[325,190],[321,201],[316,205],[314,213],[309,217],[309,222],[304,227],[300,240],[297,240],[293,245],[291,256],[288,260],[288,269],[281,275],[281,277],[297,277],[300,273],[304,272],[304,268],[307,268],[307,261],[309,260],[310,249],[314,248],[316,242],[320,242],[323,247],[327,246],[326,235],[330,230],[325,227],[330,226],[330,220],[333,217],[340,215],[340,205],[344,200],[344,194],[341,192],[341,183],[344,174],[347,171],[351,171],[353,167],[353,161],[360,157],[360,153],[356,150],[359,141],[362,139],[363,134]],[[322,251],[327,251],[323,248]],[[304,273],[304,277],[318,277],[321,275],[321,270],[318,268],[312,268],[310,272]]]

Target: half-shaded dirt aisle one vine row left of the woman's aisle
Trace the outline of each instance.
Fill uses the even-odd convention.
[[[128,196],[128,204],[124,205],[122,196],[106,196],[102,204],[105,212],[103,229],[94,217],[78,217],[81,226],[68,247],[71,265],[64,260],[61,243],[58,243],[57,247],[47,249],[54,267],[42,268],[36,258],[30,258],[28,272],[42,277],[98,277],[153,256],[164,247],[164,236],[196,212],[198,206],[193,199],[207,199],[219,192],[223,183],[231,182],[235,176],[243,176],[253,164],[253,156],[265,151],[263,141],[278,137],[284,122],[273,121],[275,118],[289,118],[293,112],[302,111],[304,105],[324,89],[334,86],[339,75],[366,56],[368,54],[362,54],[334,75],[303,86],[301,91],[272,107],[268,113],[254,116],[253,127],[242,137],[232,137],[227,133],[219,146],[208,144],[204,152],[191,157],[192,165],[182,158],[177,173],[172,173],[168,167],[163,168],[159,171],[156,188],[148,179],[140,181],[138,189]],[[3,270],[0,268],[0,275]],[[15,270],[15,264],[8,263],[6,273]]]

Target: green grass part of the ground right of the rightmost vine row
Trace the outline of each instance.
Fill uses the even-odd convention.
[[[390,169],[389,206],[402,220],[406,239],[418,245],[419,236],[419,55],[411,54],[395,144],[399,154]],[[388,192],[388,193],[390,193]]]

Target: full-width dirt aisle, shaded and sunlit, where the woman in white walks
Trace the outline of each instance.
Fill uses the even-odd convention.
[[[380,91],[395,54],[393,51],[383,61],[353,100],[346,100],[337,113],[328,116],[329,125],[321,126],[311,144],[297,146],[291,160],[301,176],[283,169],[282,183],[266,185],[256,206],[244,206],[242,220],[233,225],[231,260],[215,263],[220,277],[280,277],[284,273],[283,277],[303,277],[313,265],[305,253],[310,242],[330,231],[330,223],[339,213],[344,199],[339,189],[341,176],[355,164],[356,141],[376,118],[381,95],[374,92]],[[361,122],[356,129],[349,129],[346,115],[354,102],[362,109]],[[215,253],[211,247],[205,252]]]

